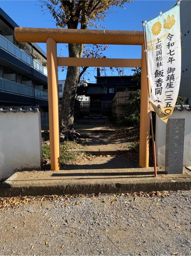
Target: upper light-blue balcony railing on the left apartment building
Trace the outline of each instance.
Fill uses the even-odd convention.
[[[39,64],[37,61],[33,60],[28,54],[23,52],[21,49],[19,49],[17,46],[15,46],[13,43],[11,43],[9,40],[4,38],[0,35],[0,47],[4,49],[5,51],[9,52],[10,54],[16,56],[20,60],[24,61],[31,67],[34,65],[34,68],[47,76],[47,69],[43,67],[41,64]]]

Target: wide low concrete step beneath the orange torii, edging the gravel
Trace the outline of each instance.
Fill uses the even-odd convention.
[[[151,191],[177,191],[191,189],[187,174],[163,174],[154,177],[153,168],[113,170],[59,170],[16,172],[0,185],[0,197],[113,194]],[[161,174],[160,174],[161,173]]]

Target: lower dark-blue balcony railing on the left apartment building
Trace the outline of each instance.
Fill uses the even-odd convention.
[[[11,94],[22,95],[26,97],[34,97],[34,89],[26,85],[20,85],[18,83],[9,81],[7,79],[0,78],[0,91],[8,92]],[[48,94],[44,91],[35,89],[35,98],[48,100]]]

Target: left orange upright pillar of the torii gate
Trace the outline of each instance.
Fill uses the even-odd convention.
[[[60,169],[60,138],[59,138],[59,108],[58,108],[58,66],[57,43],[48,37],[47,43],[47,73],[48,73],[48,109],[50,130],[50,162],[51,170]]]

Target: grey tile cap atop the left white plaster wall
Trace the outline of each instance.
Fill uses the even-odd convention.
[[[27,112],[39,112],[41,111],[40,105],[36,106],[0,106],[0,113],[8,113],[8,112],[22,112],[22,113],[27,113]]]

